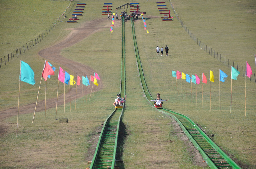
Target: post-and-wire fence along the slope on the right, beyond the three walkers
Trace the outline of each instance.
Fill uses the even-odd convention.
[[[243,77],[245,77],[245,68],[242,66],[242,67],[238,67],[238,62],[236,61],[231,61],[231,60],[226,60],[226,57],[223,55],[221,56],[221,54],[217,51],[215,51],[214,49],[212,49],[212,47],[210,48],[210,46],[207,46],[205,43],[203,43],[200,39],[198,39],[198,37],[196,37],[195,34],[193,34],[189,28],[186,26],[186,24],[184,23],[184,21],[179,17],[178,13],[176,10],[174,10],[174,7],[173,7],[173,4],[170,0],[170,4],[171,4],[171,7],[172,7],[172,10],[173,10],[173,13],[175,14],[175,17],[177,18],[177,20],[180,22],[180,25],[183,27],[183,29],[189,34],[189,37],[191,39],[193,39],[193,41],[195,41],[195,43],[197,43],[197,45],[201,48],[201,49],[204,49],[204,51],[206,53],[208,53],[209,55],[211,55],[212,57],[216,58],[218,61],[224,63],[225,66],[228,66],[231,67],[235,67],[238,71],[242,70],[242,75]],[[239,68],[239,69],[238,69]],[[255,81],[256,83],[256,77],[255,77],[255,73],[254,73],[254,79],[253,79],[253,76],[250,77],[250,81]]]

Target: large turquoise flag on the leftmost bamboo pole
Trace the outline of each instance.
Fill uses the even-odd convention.
[[[34,85],[36,83],[34,71],[26,63],[20,60],[20,80]]]

